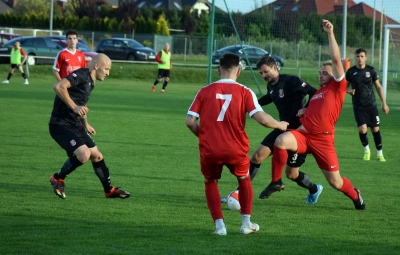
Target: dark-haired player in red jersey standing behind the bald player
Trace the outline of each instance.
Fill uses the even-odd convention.
[[[78,32],[68,30],[65,34],[67,48],[61,50],[54,61],[53,75],[57,81],[67,77],[70,73],[79,68],[86,67],[85,54],[76,48],[78,43]]]

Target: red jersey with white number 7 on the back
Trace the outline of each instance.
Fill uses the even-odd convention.
[[[188,114],[200,118],[200,157],[225,164],[248,157],[246,113],[263,111],[254,92],[231,79],[212,83],[197,93]]]

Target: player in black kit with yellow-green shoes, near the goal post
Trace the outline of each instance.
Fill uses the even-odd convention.
[[[382,101],[382,110],[385,114],[389,113],[389,107],[386,104],[378,74],[372,66],[366,64],[366,50],[357,49],[355,60],[357,64],[346,72],[346,81],[347,87],[351,84],[351,89],[349,88],[347,93],[352,95],[354,117],[357,122],[361,144],[364,146],[363,159],[370,160],[371,156],[367,136],[368,127],[370,127],[377,150],[377,160],[384,162],[386,160],[382,153],[382,136],[379,131],[380,119],[373,85],[375,85]]]

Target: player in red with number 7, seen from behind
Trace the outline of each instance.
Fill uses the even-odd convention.
[[[207,205],[216,224],[213,234],[226,235],[218,180],[225,165],[237,177],[242,214],[242,234],[259,230],[250,222],[253,188],[249,178],[250,149],[245,132],[246,113],[265,127],[286,130],[288,123],[266,114],[249,88],[236,82],[239,56],[227,53],[220,59],[221,80],[202,88],[186,118],[188,128],[199,137],[200,165],[204,176]],[[201,125],[197,120],[201,118]]]

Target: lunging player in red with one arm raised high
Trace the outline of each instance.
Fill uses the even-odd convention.
[[[275,140],[272,157],[272,174],[282,176],[287,161],[287,151],[311,153],[329,184],[343,192],[354,203],[357,210],[364,210],[365,203],[360,191],[353,187],[349,179],[341,177],[339,162],[334,147],[335,124],[342,110],[346,96],[346,79],[340,59],[339,47],[333,33],[333,25],[322,20],[323,29],[328,35],[329,53],[332,62],[325,62],[319,70],[319,84],[303,115],[301,126],[294,131],[286,132]]]

